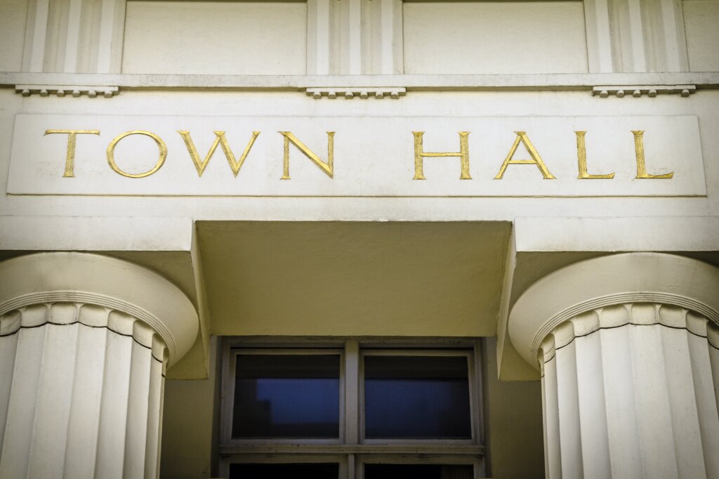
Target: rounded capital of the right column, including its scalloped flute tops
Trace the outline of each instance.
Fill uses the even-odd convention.
[[[574,337],[625,324],[687,329],[719,345],[719,269],[691,258],[635,252],[574,263],[546,275],[516,301],[509,335],[539,369],[538,354]]]

